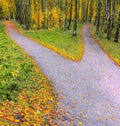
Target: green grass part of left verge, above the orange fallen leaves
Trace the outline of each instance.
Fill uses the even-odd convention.
[[[19,91],[32,86],[33,64],[13,42],[8,39],[0,23],[0,100],[13,100]]]

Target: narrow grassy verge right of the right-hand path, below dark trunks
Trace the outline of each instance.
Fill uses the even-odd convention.
[[[112,40],[107,40],[106,34],[102,34],[101,36],[96,35],[94,26],[90,28],[90,31],[96,40],[98,40],[103,50],[120,66],[120,42],[116,43]]]

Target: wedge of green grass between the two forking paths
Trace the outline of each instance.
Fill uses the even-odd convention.
[[[17,23],[16,25],[24,35],[54,50],[60,55],[71,60],[79,60],[82,58],[83,39],[80,34],[82,25],[78,25],[77,37],[72,36],[72,28],[69,31],[64,31],[63,29],[24,30]]]

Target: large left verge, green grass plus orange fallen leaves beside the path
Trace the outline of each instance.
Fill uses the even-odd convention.
[[[56,101],[53,86],[4,29],[0,22],[0,125],[47,125]]]

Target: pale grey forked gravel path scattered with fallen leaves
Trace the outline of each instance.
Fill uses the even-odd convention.
[[[120,126],[120,67],[106,56],[83,30],[85,54],[73,62],[19,34],[11,25],[9,35],[35,59],[58,92],[63,116],[61,126]]]

